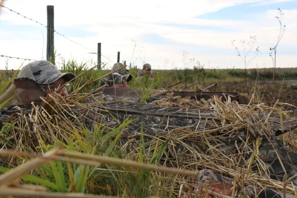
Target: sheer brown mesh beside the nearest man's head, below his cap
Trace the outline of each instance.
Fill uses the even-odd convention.
[[[13,80],[10,87],[1,95],[0,103],[12,97],[4,107],[31,104],[31,102],[34,102],[34,105],[40,105],[42,103],[40,97],[45,96],[45,90],[36,81],[30,78],[17,78]]]

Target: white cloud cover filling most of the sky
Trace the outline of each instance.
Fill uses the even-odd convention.
[[[276,1],[276,0],[275,0]],[[281,0],[279,0],[281,1]],[[13,3],[12,3],[13,2]],[[270,65],[271,60],[268,56],[268,47],[275,44],[278,35],[278,23],[274,16],[278,11],[268,11],[263,14],[255,15],[256,21],[237,21],[233,20],[201,20],[192,18],[194,16],[213,12],[224,7],[228,7],[241,3],[267,3],[271,0],[258,1],[258,0],[185,0],[172,3],[172,1],[150,1],[149,3],[143,1],[129,0],[129,1],[84,1],[83,4],[69,3],[70,1],[57,1],[57,0],[31,0],[29,1],[11,1],[6,0],[5,6],[20,12],[21,14],[37,20],[46,25],[46,5],[55,6],[55,27],[57,30],[60,27],[80,27],[84,30],[96,33],[96,36],[76,38],[69,37],[69,39],[80,43],[83,46],[97,50],[97,42],[102,43],[102,55],[109,58],[102,57],[102,61],[108,61],[110,65],[116,62],[117,52],[121,52],[121,60],[130,62],[133,54],[134,43],[132,39],[137,41],[137,49],[143,46],[145,54],[141,54],[142,58],[145,56],[146,61],[151,63],[152,66],[164,67],[166,59],[169,60],[167,69],[173,67],[182,67],[182,50],[181,46],[174,45],[156,45],[140,42],[140,37],[144,34],[157,34],[165,37],[173,42],[180,42],[181,45],[199,45],[197,49],[201,50],[203,47],[217,47],[219,50],[232,50],[231,40],[248,39],[249,36],[257,35],[257,43],[255,47],[260,46],[263,54],[267,56],[259,56],[249,64],[254,67],[258,63],[262,67],[265,63],[266,66]],[[26,9],[23,9],[26,7]],[[67,9],[66,9],[67,8]],[[280,42],[281,45],[297,45],[295,35],[297,33],[296,17],[297,10],[283,10],[285,13],[284,24],[287,25],[284,37]],[[0,40],[1,48],[0,55],[9,55],[21,58],[41,59],[42,51],[43,56],[46,53],[46,40],[45,43],[42,38],[41,32],[46,37],[46,28],[42,27],[30,20],[24,19],[21,16],[1,9],[0,11]],[[36,25],[40,27],[38,32],[22,33],[21,29],[16,30],[20,35],[28,35],[26,40],[11,40],[10,32],[1,29],[1,20],[7,20],[12,24],[21,25]],[[232,27],[236,31],[232,32],[218,32],[214,30],[193,30],[183,29],[178,27],[154,25],[152,23],[175,23],[185,25],[207,25],[212,27]],[[64,34],[63,32],[60,32]],[[13,35],[15,35],[14,33]],[[4,36],[5,35],[5,36]],[[67,34],[65,34],[67,36]],[[31,40],[29,40],[31,39]],[[92,52],[86,50],[79,45],[76,45],[69,40],[55,34],[55,48],[57,53],[66,60],[75,58],[79,62],[83,59],[93,58],[97,61],[96,54],[88,54]],[[43,50],[42,50],[43,49]],[[136,50],[137,50],[136,49]],[[280,48],[281,49],[281,48]],[[264,50],[264,51],[263,51]],[[281,50],[280,50],[281,51]],[[189,52],[189,58],[195,58],[201,64],[208,66],[210,60],[211,66],[216,67],[230,67],[230,63],[236,67],[242,67],[243,63],[239,57],[236,57],[236,52],[230,56],[217,56],[209,54],[209,56],[201,56],[196,54],[195,51]],[[282,66],[296,67],[296,56],[278,56],[278,62]],[[132,61],[135,61],[138,67],[141,66],[141,60],[137,53],[134,53]],[[9,68],[18,68],[20,60],[10,59]],[[27,63],[27,62],[26,62]],[[0,68],[4,69],[4,58],[0,57]]]

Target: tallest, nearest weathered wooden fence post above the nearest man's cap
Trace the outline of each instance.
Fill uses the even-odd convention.
[[[46,46],[46,60],[55,63],[55,47],[54,47],[54,6],[46,6],[48,19],[48,35]]]

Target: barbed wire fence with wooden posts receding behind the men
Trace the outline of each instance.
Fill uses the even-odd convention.
[[[101,53],[101,43],[97,43],[97,52],[96,52],[96,51],[90,49],[89,47],[83,46],[83,45],[79,44],[78,42],[75,42],[72,39],[69,39],[64,34],[61,34],[61,33],[57,32],[54,29],[54,6],[51,6],[51,5],[47,6],[47,21],[48,21],[47,25],[44,25],[43,23],[40,23],[40,22],[38,22],[38,21],[36,21],[34,19],[31,19],[29,17],[26,17],[26,16],[20,14],[19,12],[16,12],[16,11],[10,9],[9,7],[6,7],[4,5],[0,5],[0,6],[5,8],[5,9],[8,9],[10,12],[13,12],[13,13],[15,13],[15,14],[17,14],[17,15],[25,18],[25,19],[31,20],[32,22],[40,24],[41,26],[47,28],[47,52],[46,52],[47,61],[51,61],[54,58],[53,57],[54,56],[54,54],[53,54],[53,52],[54,52],[54,33],[56,33],[56,34],[64,37],[65,39],[69,40],[70,42],[73,42],[73,43],[75,43],[75,44],[79,45],[80,47],[83,47],[83,48],[85,48],[87,50],[90,50],[91,54],[97,54],[97,62],[95,62],[95,64],[97,65],[97,69],[103,69],[103,68],[101,68],[101,65],[104,65],[101,62],[101,56],[106,58],[108,61],[111,61],[112,63],[115,63],[114,61],[110,60],[106,56],[102,55],[102,53]],[[36,61],[35,59],[31,59],[31,58],[20,58],[20,57],[8,56],[8,55],[3,55],[3,54],[0,54],[0,57],[10,58],[10,59],[18,59],[18,60],[25,60],[25,61]],[[117,54],[117,62],[118,63],[120,62],[120,52],[118,52],[118,54]],[[126,61],[123,61],[123,63],[126,64]],[[7,69],[7,66],[5,68]]]

